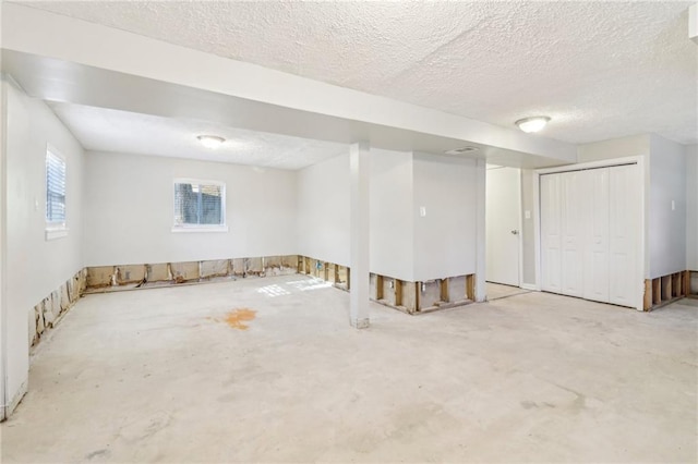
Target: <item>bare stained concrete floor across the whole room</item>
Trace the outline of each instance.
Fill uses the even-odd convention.
[[[698,301],[374,304],[363,331],[348,302],[300,276],[88,295],[2,462],[698,460]]]

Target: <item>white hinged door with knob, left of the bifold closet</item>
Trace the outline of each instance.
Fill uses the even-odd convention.
[[[485,194],[486,280],[519,286],[520,171],[490,168]]]

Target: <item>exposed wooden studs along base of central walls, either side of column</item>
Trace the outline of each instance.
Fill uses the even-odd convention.
[[[350,289],[349,268],[306,256],[299,256],[298,271]],[[476,276],[455,276],[411,282],[377,273],[370,274],[372,301],[407,314],[424,314],[461,306],[474,301]]]

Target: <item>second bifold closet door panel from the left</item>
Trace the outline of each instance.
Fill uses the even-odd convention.
[[[583,192],[583,171],[559,174],[562,193],[562,294],[582,296],[587,198]]]

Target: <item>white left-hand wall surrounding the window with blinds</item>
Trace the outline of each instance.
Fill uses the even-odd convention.
[[[81,145],[48,107],[3,82],[7,91],[7,256],[4,322],[7,398],[28,376],[28,318],[34,306],[83,267]],[[46,241],[46,147],[67,163],[68,236]]]

